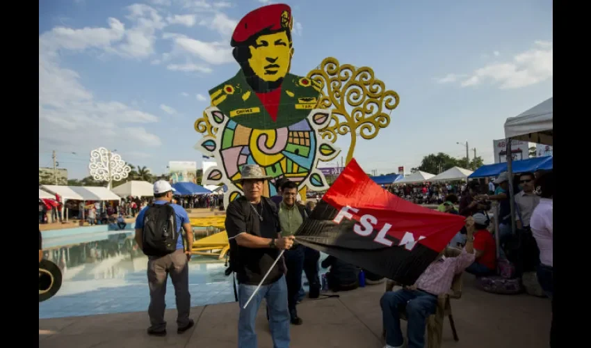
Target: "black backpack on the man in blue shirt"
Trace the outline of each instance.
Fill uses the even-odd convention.
[[[143,252],[164,256],[177,250],[177,215],[170,203],[149,205],[144,214]]]

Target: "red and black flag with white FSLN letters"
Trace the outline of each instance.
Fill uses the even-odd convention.
[[[464,226],[464,217],[410,203],[352,159],[295,232],[296,241],[412,285]]]

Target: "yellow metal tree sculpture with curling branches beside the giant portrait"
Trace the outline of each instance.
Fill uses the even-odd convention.
[[[328,126],[321,129],[322,138],[334,143],[337,133],[350,133],[346,163],[353,158],[357,136],[366,140],[375,138],[381,128],[388,127],[390,113],[400,101],[398,93],[386,90],[384,82],[375,79],[371,68],[340,65],[336,58],[325,58],[318,68],[308,73],[308,78],[322,87],[318,107],[332,108]],[[349,112],[347,106],[353,107],[352,111]]]

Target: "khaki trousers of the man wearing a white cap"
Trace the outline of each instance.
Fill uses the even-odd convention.
[[[148,258],[147,278],[150,297],[148,315],[152,324],[150,328],[154,331],[166,329],[164,296],[166,294],[168,274],[170,274],[172,285],[175,286],[175,295],[177,297],[177,325],[179,328],[183,328],[189,323],[191,294],[189,294],[188,263],[183,249],[178,249],[174,253],[161,258],[153,256]]]

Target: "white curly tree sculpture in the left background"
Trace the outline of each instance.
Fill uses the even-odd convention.
[[[131,168],[125,164],[120,155],[113,154],[111,150],[106,148],[97,148],[90,151],[88,169],[93,179],[108,182],[108,189],[111,189],[113,180],[123,180],[131,171]]]

